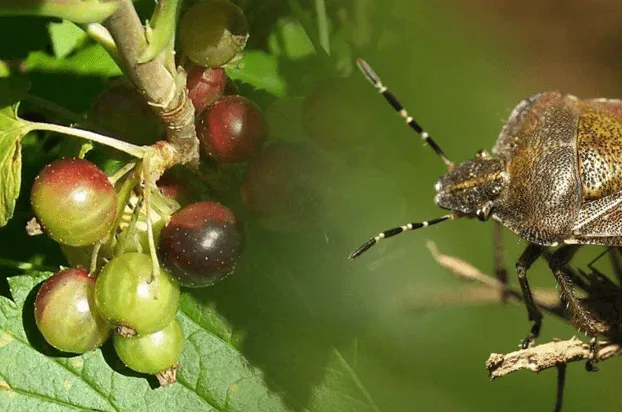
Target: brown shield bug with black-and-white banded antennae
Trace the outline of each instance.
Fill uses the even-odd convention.
[[[434,200],[451,213],[385,230],[356,249],[350,259],[405,231],[458,218],[492,218],[529,242],[516,263],[533,322],[522,342],[527,348],[542,325],[527,271],[538,257],[548,254],[548,248],[560,246],[550,255],[549,267],[576,324],[591,337],[596,361],[597,323],[574,294],[565,269],[580,245],[622,246],[622,101],[536,94],[511,112],[492,154],[481,150],[473,159],[454,164],[372,68],[361,59],[357,65],[447,166],[434,186]],[[592,361],[587,368],[592,369]]]

